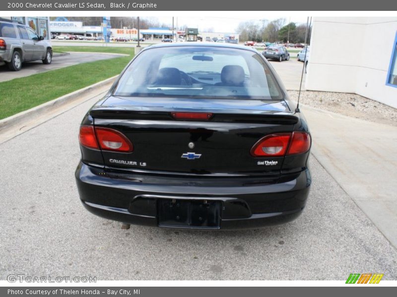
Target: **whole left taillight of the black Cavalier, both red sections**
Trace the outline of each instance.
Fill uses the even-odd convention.
[[[132,143],[119,131],[109,128],[81,126],[80,144],[87,148],[96,148],[120,152],[132,152]]]

